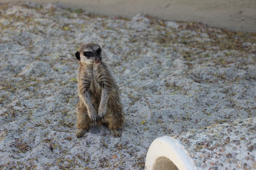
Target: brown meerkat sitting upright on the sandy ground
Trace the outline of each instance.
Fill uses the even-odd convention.
[[[92,124],[108,124],[114,137],[120,137],[117,129],[124,122],[123,107],[120,101],[116,81],[104,62],[101,47],[97,44],[85,44],[75,54],[78,66],[78,95],[76,106],[76,137],[82,137]]]

